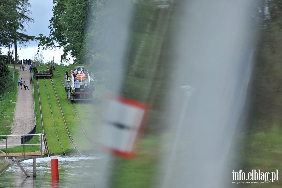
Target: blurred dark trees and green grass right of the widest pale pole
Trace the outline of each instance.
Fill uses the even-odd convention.
[[[282,3],[278,0],[266,2],[268,19],[261,33],[249,83],[253,103],[246,123],[247,130],[238,139],[243,140],[238,148],[239,168],[246,172],[251,169],[264,172],[282,169]],[[281,182],[276,181],[271,186],[281,187]]]

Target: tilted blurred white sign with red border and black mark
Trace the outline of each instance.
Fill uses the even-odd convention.
[[[150,107],[123,97],[110,97],[99,142],[123,158],[134,158]]]

